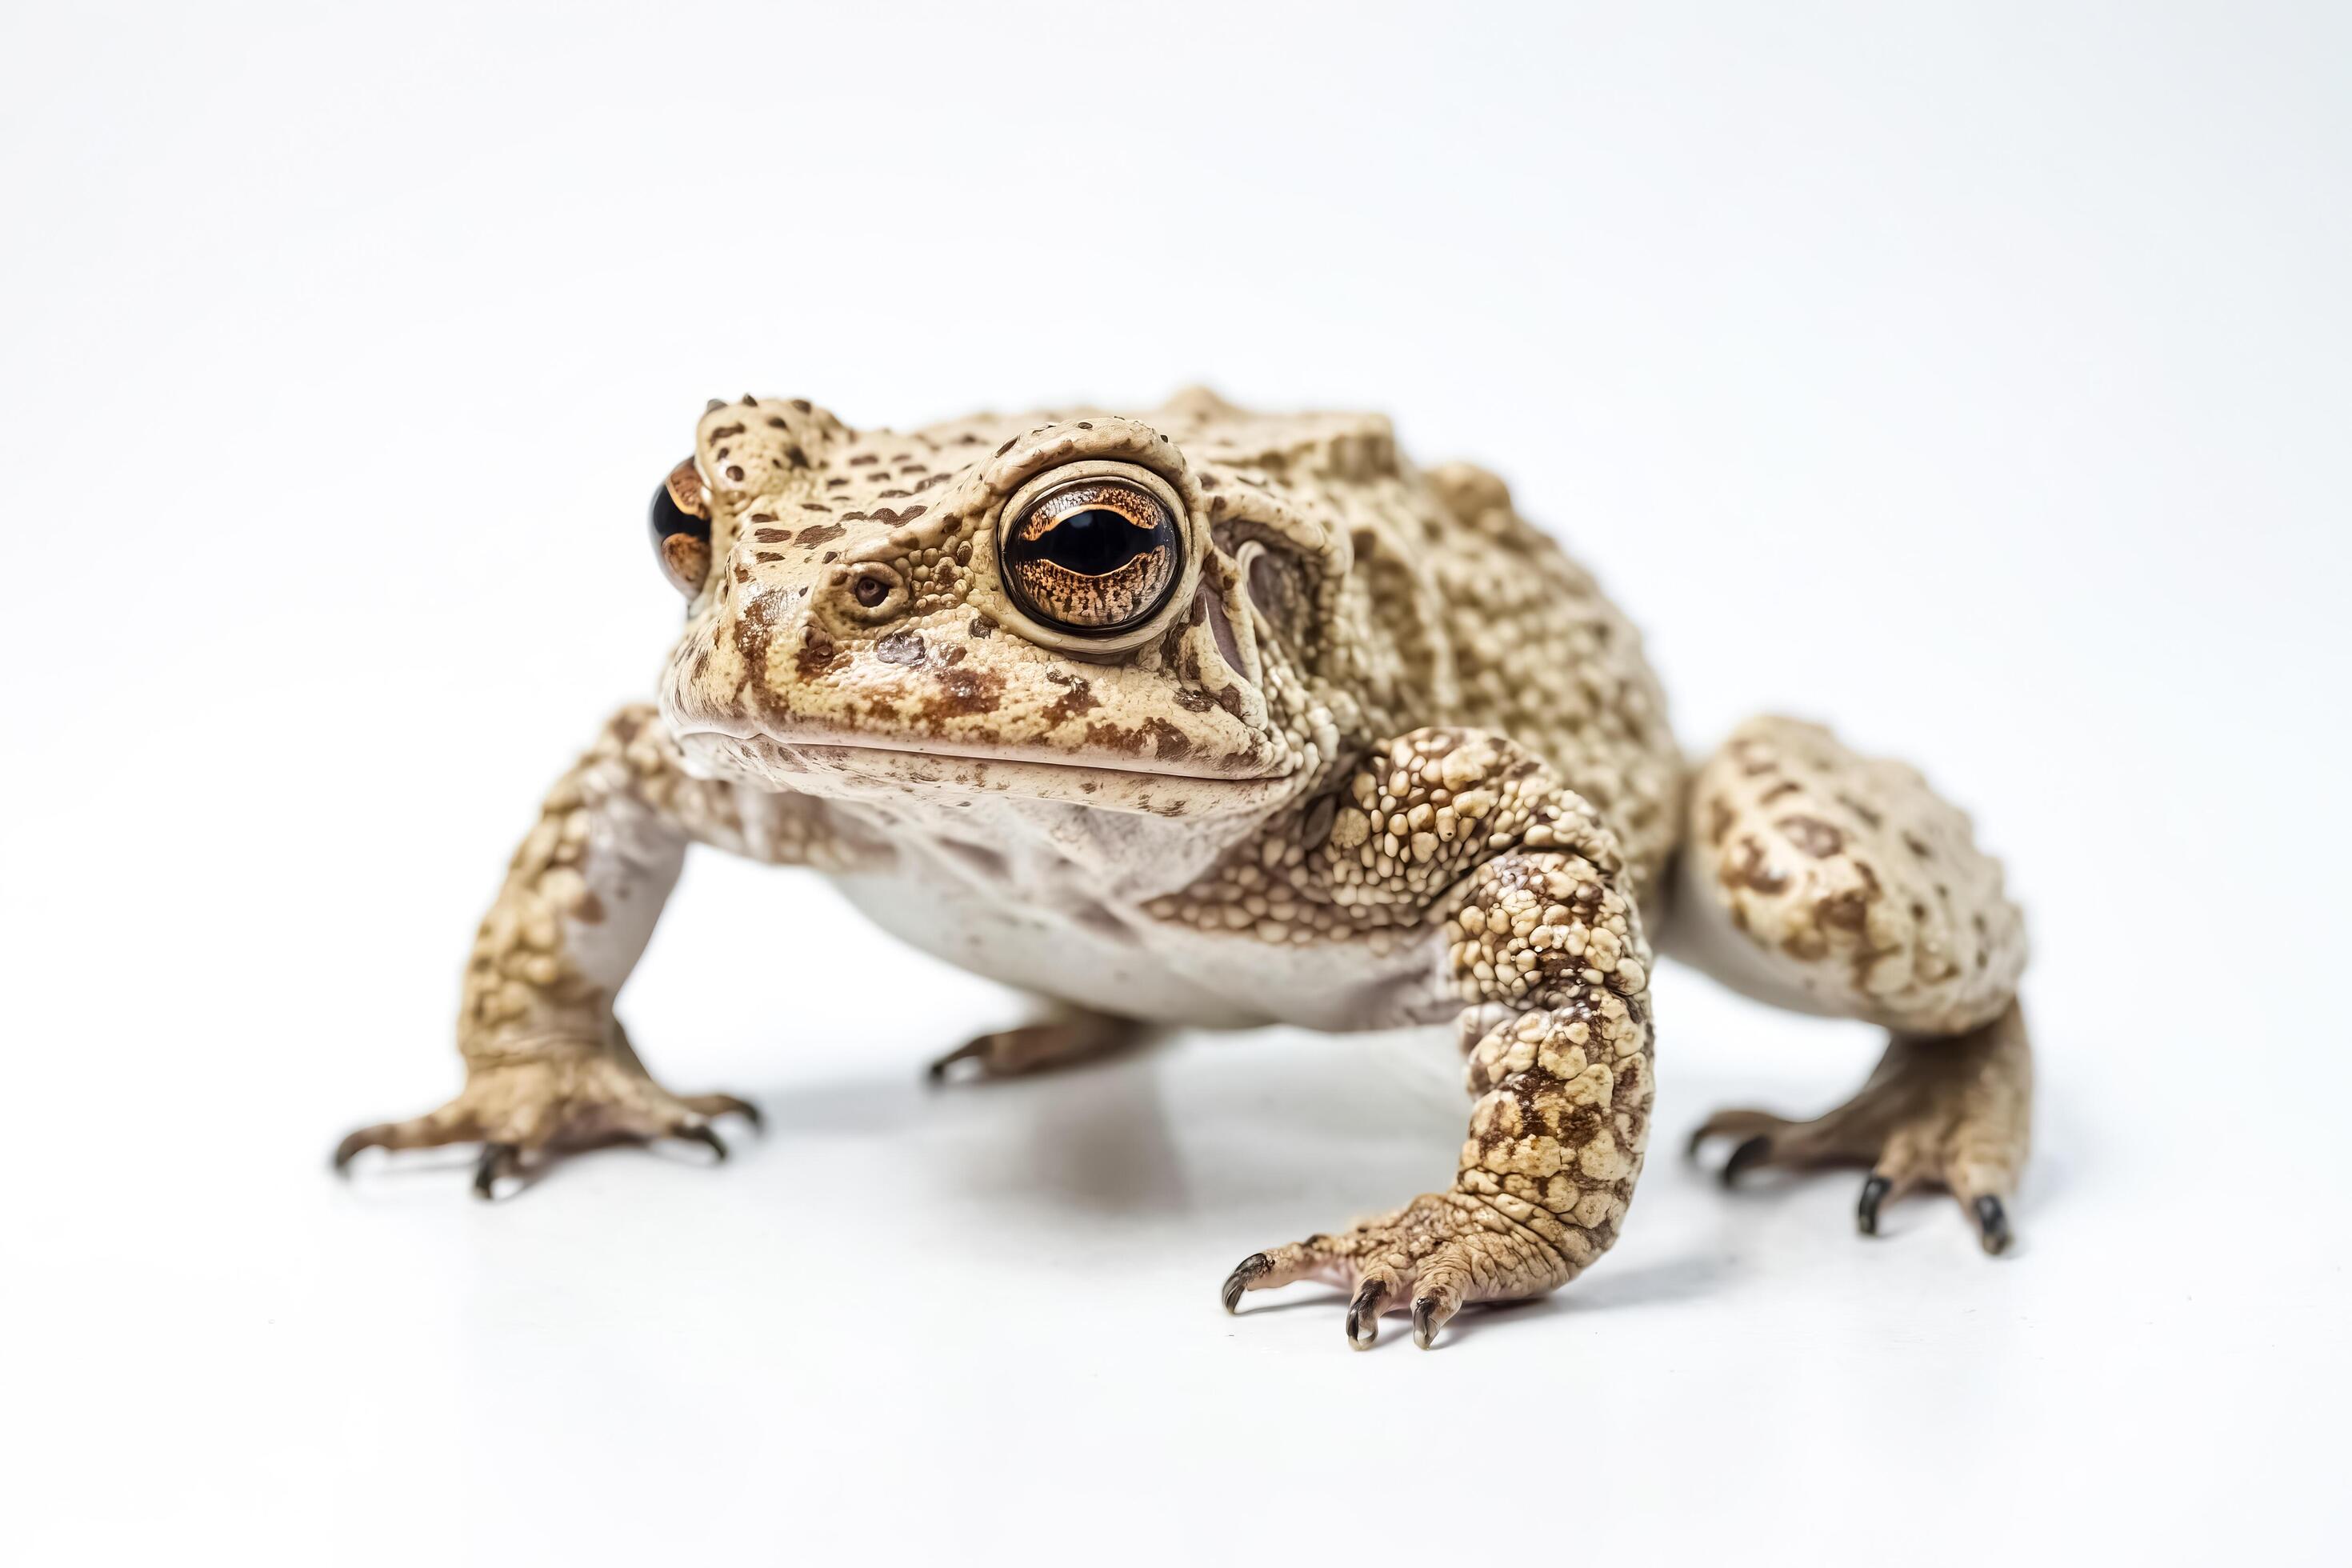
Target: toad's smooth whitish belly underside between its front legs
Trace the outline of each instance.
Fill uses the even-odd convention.
[[[957,969],[1124,1018],[1381,1030],[1437,1020],[1454,1006],[1439,987],[1435,938],[1388,952],[1367,943],[1277,945],[1082,898],[1000,898],[955,877],[833,882],[877,926]]]

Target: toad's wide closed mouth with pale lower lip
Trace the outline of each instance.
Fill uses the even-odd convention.
[[[1044,799],[1098,811],[1148,816],[1232,816],[1263,811],[1294,788],[1289,773],[1211,773],[1197,762],[1089,759],[955,750],[950,745],[875,745],[868,738],[781,741],[722,729],[687,729],[680,748],[706,769],[769,788],[833,797],[941,797],[953,804]]]

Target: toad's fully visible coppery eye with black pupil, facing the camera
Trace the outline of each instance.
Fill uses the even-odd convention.
[[[1073,632],[1150,621],[1181,567],[1176,520],[1134,480],[1056,484],[1004,529],[1004,581],[1021,609]]]

